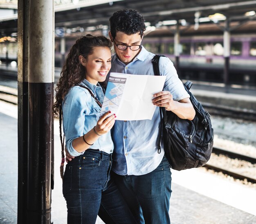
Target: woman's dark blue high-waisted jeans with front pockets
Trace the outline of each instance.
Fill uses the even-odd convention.
[[[68,162],[63,180],[68,224],[94,224],[100,206],[110,216],[108,223],[136,223],[110,179],[111,164],[112,155],[92,149]]]

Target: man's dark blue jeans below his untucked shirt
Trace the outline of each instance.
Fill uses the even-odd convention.
[[[144,218],[146,224],[170,223],[168,211],[171,197],[171,170],[166,157],[148,174],[121,176],[112,172],[112,177],[136,220],[140,219],[143,223]]]

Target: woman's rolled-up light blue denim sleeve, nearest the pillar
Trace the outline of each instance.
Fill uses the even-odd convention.
[[[77,152],[72,142],[74,139],[83,135],[85,123],[85,110],[87,94],[78,87],[72,87],[62,105],[63,111],[63,130],[66,137],[67,151],[72,156],[82,155],[83,152]]]

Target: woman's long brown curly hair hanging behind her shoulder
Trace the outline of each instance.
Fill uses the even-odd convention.
[[[94,47],[112,47],[112,42],[105,36],[92,36],[87,34],[82,36],[70,49],[67,59],[61,71],[61,77],[58,80],[56,91],[56,101],[53,105],[54,117],[59,117],[59,129],[61,139],[61,178],[63,179],[64,167],[64,138],[62,139],[61,123],[62,123],[62,102],[74,85],[78,85],[85,78],[85,67],[80,63],[79,56],[82,55],[85,59],[93,53]]]

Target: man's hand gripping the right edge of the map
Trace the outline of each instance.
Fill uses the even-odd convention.
[[[175,110],[176,101],[173,100],[173,95],[169,91],[161,91],[153,95],[155,97],[152,103],[157,107],[164,107],[166,110]]]

